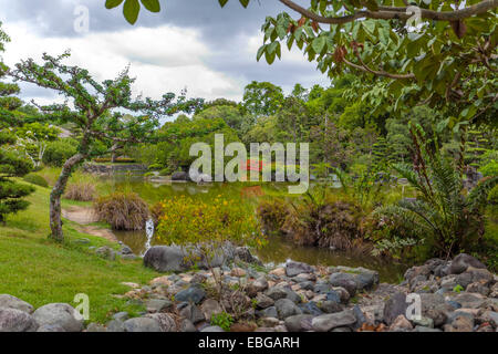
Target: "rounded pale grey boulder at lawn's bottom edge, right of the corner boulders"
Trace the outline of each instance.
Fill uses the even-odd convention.
[[[73,306],[66,303],[51,303],[41,306],[33,313],[34,320],[40,325],[58,325],[64,332],[81,332],[83,319]]]

